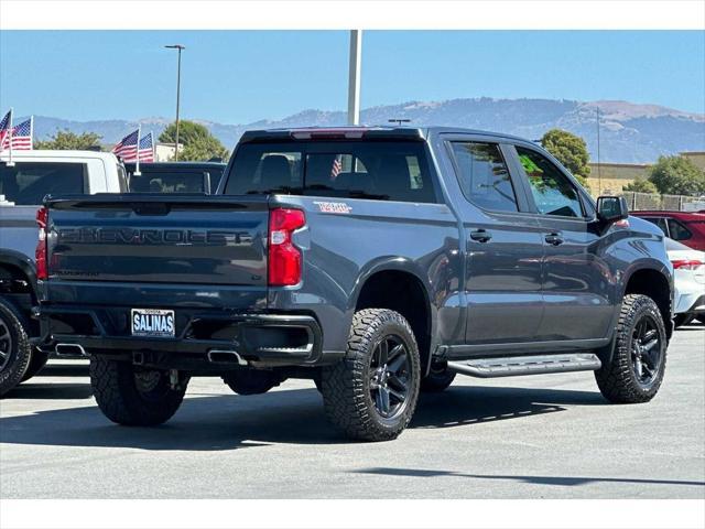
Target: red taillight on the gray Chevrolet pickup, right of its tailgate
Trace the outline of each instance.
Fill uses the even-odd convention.
[[[301,281],[301,250],[292,242],[292,234],[305,225],[301,209],[276,208],[269,213],[270,287],[291,287]]]

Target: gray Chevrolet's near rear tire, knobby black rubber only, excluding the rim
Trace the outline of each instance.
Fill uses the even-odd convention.
[[[395,418],[384,419],[377,412],[370,396],[370,365],[375,347],[386,336],[403,342],[409,357],[410,379],[405,407]],[[346,356],[323,368],[321,386],[328,420],[350,439],[389,441],[406,428],[419,400],[419,346],[409,322],[387,309],[366,309],[352,317]]]

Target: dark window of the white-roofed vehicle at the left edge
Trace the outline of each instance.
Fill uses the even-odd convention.
[[[15,162],[0,164],[0,195],[19,206],[42,204],[45,195],[86,193],[83,163]]]

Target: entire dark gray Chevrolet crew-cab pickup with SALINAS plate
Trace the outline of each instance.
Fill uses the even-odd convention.
[[[612,402],[663,380],[663,234],[519,138],[251,131],[214,196],[50,197],[40,218],[40,342],[90,357],[120,424],[166,421],[195,376],[313,379],[368,441],[456,374],[594,371]]]

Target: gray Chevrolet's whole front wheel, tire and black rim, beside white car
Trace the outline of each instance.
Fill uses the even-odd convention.
[[[651,298],[626,295],[609,364],[595,371],[603,396],[616,403],[648,402],[659,392],[665,370],[668,335]]]

